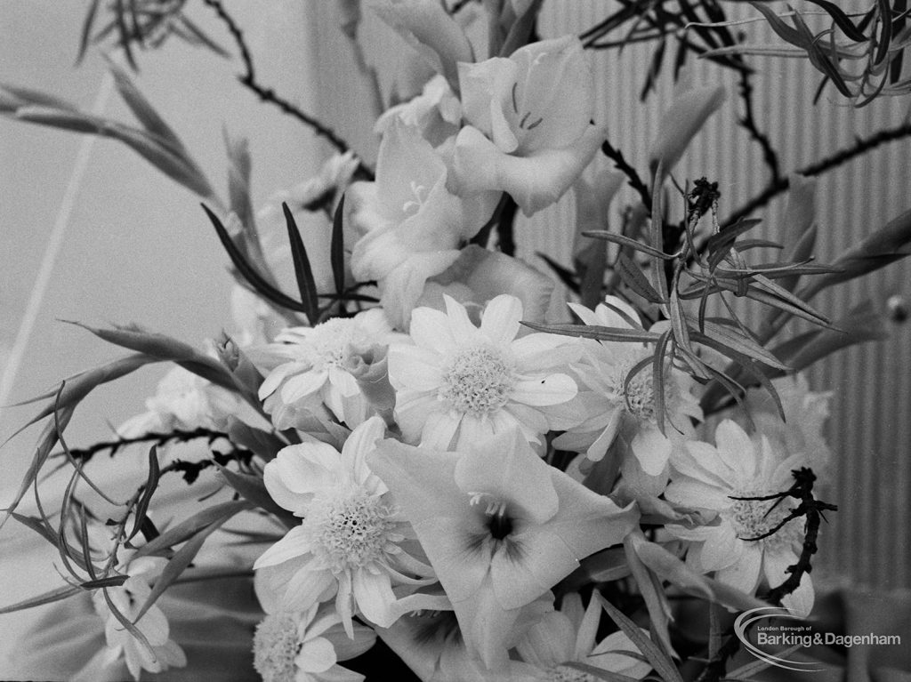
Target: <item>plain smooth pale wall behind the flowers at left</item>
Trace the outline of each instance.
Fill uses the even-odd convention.
[[[230,37],[200,4],[191,15],[234,52]],[[309,4],[227,2],[246,29],[264,83],[302,107],[314,107]],[[85,3],[58,0],[0,2],[0,82],[46,90],[80,107],[92,107],[106,68],[97,52],[76,68]],[[238,61],[212,56],[173,40],[138,56],[138,86],[159,107],[200,162],[213,186],[226,196],[222,127],[249,137],[257,202],[310,177],[326,149],[301,124],[259,104],[235,81]],[[117,96],[106,115],[131,121]],[[0,349],[8,352],[46,254],[79,148],[87,137],[0,118]],[[230,321],[227,257],[189,191],[141,158],[99,139],[66,221],[59,256],[36,307],[8,401],[43,392],[63,377],[126,354],[86,331],[57,320],[92,323],[136,321],[191,343],[215,336]],[[0,360],[3,353],[0,353]],[[3,367],[0,362],[0,368]],[[8,365],[7,365],[8,369]],[[100,390],[77,411],[67,429],[72,446],[109,436],[105,420],[118,423],[142,411],[164,368]],[[0,411],[5,439],[34,410]],[[0,449],[0,502],[21,480],[36,439],[30,429]],[[125,463],[127,464],[127,463]],[[128,465],[128,464],[127,464]],[[28,531],[7,524],[0,532],[0,605],[59,585],[54,552],[36,549]],[[34,559],[40,553],[43,561]],[[0,616],[0,678],[9,678],[9,647],[35,611]]]

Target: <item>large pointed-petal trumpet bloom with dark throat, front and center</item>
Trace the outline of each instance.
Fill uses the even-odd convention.
[[[370,464],[412,522],[469,652],[507,665],[523,606],[638,519],[544,463],[516,431],[446,453],[384,441]]]

